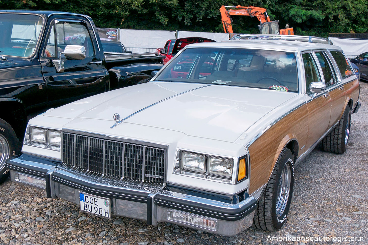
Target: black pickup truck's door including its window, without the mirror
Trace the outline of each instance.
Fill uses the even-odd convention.
[[[55,16],[49,19],[40,62],[47,84],[49,107],[58,107],[69,102],[92,96],[109,89],[108,72],[102,64],[102,47],[87,19],[82,17]],[[86,49],[83,60],[67,60],[63,54],[67,45],[82,45]],[[53,61],[60,59],[64,71],[58,71]],[[106,81],[107,80],[107,81]]]

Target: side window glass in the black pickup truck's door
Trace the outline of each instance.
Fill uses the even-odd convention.
[[[82,45],[86,48],[86,57],[95,55],[88,30],[81,23],[58,22],[55,24],[55,30],[58,53],[59,51],[64,52],[67,45]]]

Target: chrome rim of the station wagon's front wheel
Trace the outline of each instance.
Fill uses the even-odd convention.
[[[277,190],[277,198],[276,198],[277,217],[280,217],[285,211],[287,200],[289,199],[290,194],[290,183],[291,183],[290,166],[289,164],[286,164],[282,170],[279,180],[279,188]]]

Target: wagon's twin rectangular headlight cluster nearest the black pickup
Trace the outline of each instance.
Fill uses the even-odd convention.
[[[24,144],[60,151],[61,131],[28,126]]]

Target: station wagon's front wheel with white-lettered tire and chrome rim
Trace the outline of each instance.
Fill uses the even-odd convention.
[[[265,231],[279,230],[286,222],[294,187],[294,157],[284,148],[258,201],[254,224]]]

